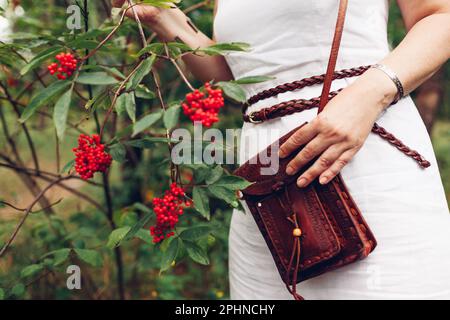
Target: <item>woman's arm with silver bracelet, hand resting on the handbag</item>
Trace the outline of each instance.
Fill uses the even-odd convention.
[[[398,3],[409,32],[381,63],[396,72],[407,94],[450,57],[450,2],[398,0]],[[288,174],[294,174],[320,155],[298,179],[298,185],[306,186],[317,177],[320,183],[328,183],[359,151],[374,122],[396,94],[394,83],[380,70],[364,73],[281,146],[280,157],[286,157],[306,144],[291,161]]]

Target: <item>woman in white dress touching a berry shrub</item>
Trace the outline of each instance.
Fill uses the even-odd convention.
[[[122,5],[123,1],[114,1]],[[218,0],[215,40],[247,42],[252,51],[222,57],[186,56],[199,79],[230,80],[268,75],[274,80],[248,85],[248,97],[278,84],[325,71],[338,0]],[[387,41],[388,0],[350,1],[337,69],[380,63],[393,70],[408,94],[450,57],[450,2],[398,0],[408,34],[392,52]],[[178,9],[136,7],[162,40],[178,38],[191,47],[213,44],[186,22]],[[131,10],[130,10],[131,11]],[[128,13],[132,17],[132,13]],[[327,183],[339,172],[377,237],[367,259],[305,281],[307,299],[450,298],[450,216],[433,149],[413,101],[389,107],[397,87],[384,72],[369,69],[358,78],[333,82],[345,88],[326,109],[293,114],[262,124],[246,123],[243,134],[258,140],[251,152],[243,140],[241,162],[278,136],[309,123],[281,147],[280,156],[306,145],[291,162],[295,173],[319,160],[298,180]],[[320,95],[313,86],[257,102],[249,112],[282,101]],[[374,134],[374,122],[387,128],[431,162],[422,170]],[[230,283],[233,299],[290,299],[251,214],[234,212],[230,232]]]

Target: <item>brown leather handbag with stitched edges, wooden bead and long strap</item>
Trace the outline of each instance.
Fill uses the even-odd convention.
[[[346,8],[347,0],[341,0],[319,112],[330,98]],[[283,136],[276,146],[282,145],[298,129]],[[408,154],[406,146],[392,135],[390,137],[396,143],[386,140],[405,154],[424,167],[429,165],[417,152],[408,149],[414,152]],[[294,176],[285,173],[287,164],[301,148],[280,160],[275,175],[262,175],[260,169],[267,164],[260,159],[270,157],[276,146],[269,146],[234,174],[253,182],[240,192],[240,196],[264,236],[288,290],[295,299],[301,300],[297,283],[367,257],[375,249],[377,241],[340,175],[326,185],[314,181],[306,188],[299,188],[296,181],[309,165]]]

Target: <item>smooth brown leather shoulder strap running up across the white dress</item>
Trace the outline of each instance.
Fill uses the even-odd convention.
[[[319,111],[322,112],[329,101],[329,94],[331,90],[331,83],[333,82],[333,75],[336,69],[336,62],[339,55],[339,48],[341,46],[342,33],[344,31],[345,16],[347,13],[348,0],[340,0],[338,18],[336,28],[334,31],[333,44],[331,45],[330,58],[328,60],[327,72],[323,82],[322,94],[320,96]]]

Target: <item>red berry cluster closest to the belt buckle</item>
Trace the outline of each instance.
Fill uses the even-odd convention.
[[[192,122],[201,122],[205,127],[211,127],[219,121],[219,110],[224,105],[221,89],[213,89],[210,83],[205,83],[205,90],[196,89],[186,95],[182,104],[184,114]]]

